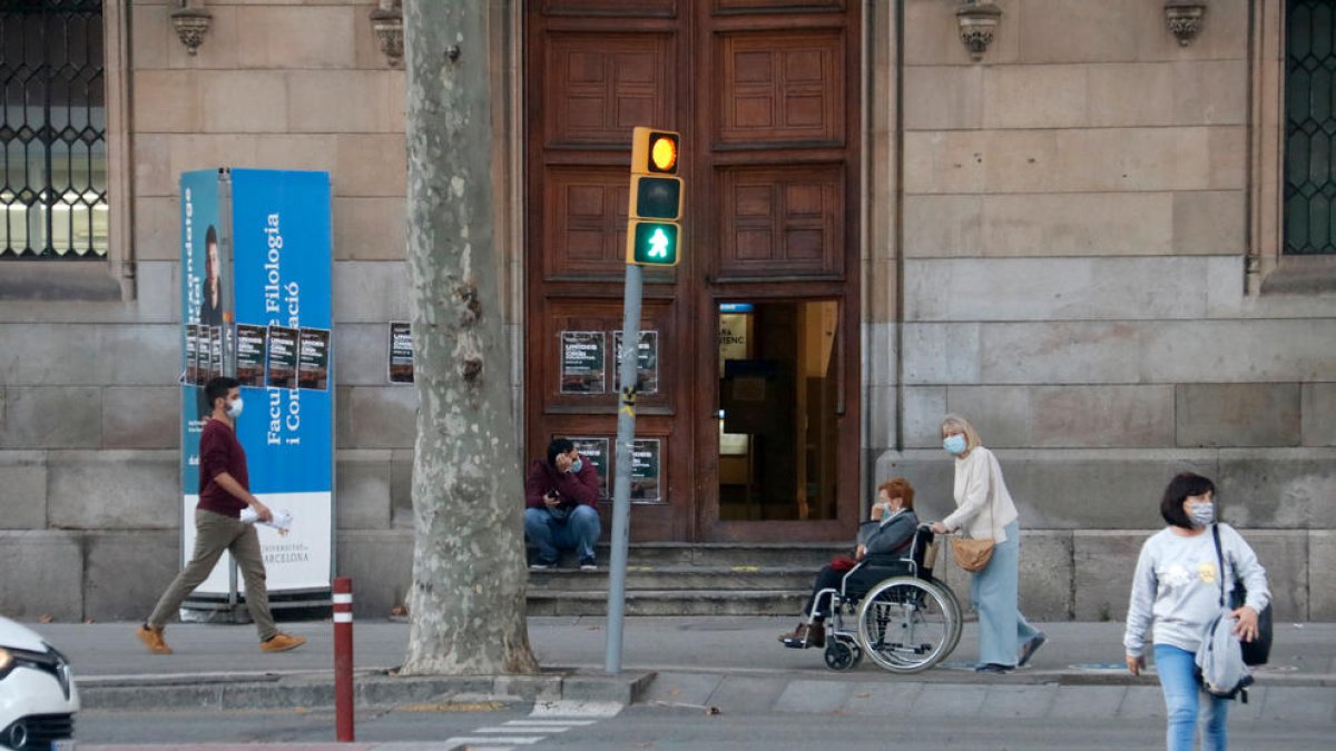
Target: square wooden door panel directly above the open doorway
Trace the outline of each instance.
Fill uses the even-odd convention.
[[[843,275],[843,164],[723,167],[719,275]]]

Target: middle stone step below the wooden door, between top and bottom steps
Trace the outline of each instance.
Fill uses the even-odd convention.
[[[627,567],[627,589],[703,589],[703,591],[803,591],[812,585],[819,567]],[[607,592],[608,568],[599,571],[546,569],[529,571],[529,592],[572,591]]]

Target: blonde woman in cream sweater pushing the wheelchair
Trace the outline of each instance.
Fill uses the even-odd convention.
[[[993,539],[993,557],[970,577],[970,601],[979,612],[978,672],[1005,673],[1025,665],[1043,645],[1017,604],[1021,587],[1021,522],[1002,468],[979,433],[958,414],[942,418],[942,448],[955,457],[955,512],[933,524],[938,535],[965,529]]]

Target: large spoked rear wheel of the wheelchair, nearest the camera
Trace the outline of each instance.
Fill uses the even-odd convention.
[[[887,579],[858,608],[858,639],[872,661],[891,672],[926,671],[959,641],[959,605],[941,584],[912,576]]]

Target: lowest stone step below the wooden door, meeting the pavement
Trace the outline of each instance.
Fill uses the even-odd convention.
[[[796,616],[810,591],[760,589],[628,589],[628,616]],[[532,616],[601,616],[608,613],[607,592],[530,591]]]

